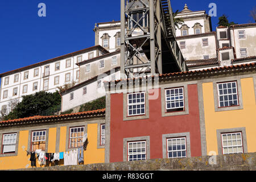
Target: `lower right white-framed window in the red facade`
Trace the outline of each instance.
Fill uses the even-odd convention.
[[[186,138],[167,138],[168,158],[187,158]]]

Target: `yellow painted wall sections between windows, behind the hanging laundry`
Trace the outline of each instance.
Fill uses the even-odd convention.
[[[105,148],[97,148],[97,127],[98,124],[88,125],[89,144],[87,150],[84,151],[84,164],[104,163]],[[30,168],[30,155],[27,156],[28,130],[19,132],[18,155],[10,157],[0,157],[0,170]],[[48,137],[48,153],[55,152],[56,147],[56,128],[49,129]],[[64,152],[66,146],[67,127],[60,127],[60,144],[59,151]],[[62,165],[61,165],[62,166]],[[40,167],[36,162],[36,167]]]

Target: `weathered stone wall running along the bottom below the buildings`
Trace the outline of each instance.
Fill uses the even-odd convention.
[[[216,157],[216,158],[215,158]],[[19,169],[21,171],[256,171],[256,152],[179,159],[152,159],[134,162],[101,163]],[[212,164],[214,163],[214,164]]]

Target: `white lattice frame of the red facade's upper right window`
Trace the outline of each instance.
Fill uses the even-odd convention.
[[[180,93],[180,89],[182,89],[182,94]],[[177,94],[175,94],[175,90],[178,91]],[[172,91],[174,94],[171,94]],[[167,111],[175,110],[175,109],[182,109],[182,108],[183,108],[183,111],[185,110],[184,87],[166,89],[165,92],[166,92],[166,110]],[[170,92],[170,93],[168,94],[168,92]],[[183,102],[183,106],[180,106],[180,102]],[[172,103],[175,105],[174,107],[171,106]],[[179,106],[176,106],[176,103],[179,104]],[[170,105],[170,106],[168,106],[168,105]]]

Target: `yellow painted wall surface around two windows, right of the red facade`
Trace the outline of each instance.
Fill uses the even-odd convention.
[[[215,112],[213,83],[208,82],[203,84],[207,154],[209,154],[210,151],[216,151],[218,154],[217,130],[237,127],[246,128],[248,152],[256,152],[256,103],[253,78],[242,78],[241,87],[243,100],[242,110]]]

